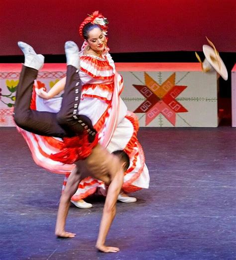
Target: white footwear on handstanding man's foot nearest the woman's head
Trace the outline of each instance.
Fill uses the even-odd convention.
[[[66,64],[80,69],[79,47],[73,41],[65,43]]]

